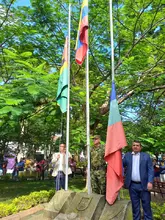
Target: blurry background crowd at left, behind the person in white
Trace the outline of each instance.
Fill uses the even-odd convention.
[[[0,175],[11,174],[12,179],[18,181],[23,174],[26,176],[26,174],[33,173],[38,180],[44,180],[45,174],[51,176],[54,170],[55,164],[52,163],[51,159],[51,157],[46,159],[31,159],[28,157],[18,160],[16,155],[7,154],[0,160]],[[69,161],[69,167],[73,177],[76,171],[76,161],[73,156]]]

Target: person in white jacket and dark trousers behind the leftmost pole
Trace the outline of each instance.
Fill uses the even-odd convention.
[[[71,154],[68,154],[68,158],[71,158]],[[60,144],[60,152],[54,153],[52,156],[52,164],[54,165],[54,169],[52,172],[52,176],[55,177],[55,186],[56,191],[65,189],[65,173],[66,173],[66,146],[65,144]],[[68,166],[68,175],[71,174],[72,171]]]

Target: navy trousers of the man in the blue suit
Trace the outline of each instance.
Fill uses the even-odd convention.
[[[143,190],[141,184],[131,183],[129,188],[129,194],[132,202],[133,220],[141,219],[140,201],[144,211],[144,220],[152,220],[151,211],[151,193],[147,190]]]

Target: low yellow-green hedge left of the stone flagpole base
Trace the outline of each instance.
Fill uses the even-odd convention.
[[[54,193],[54,190],[42,190],[40,192],[32,192],[27,196],[19,196],[12,200],[10,204],[0,202],[0,218],[30,209],[37,204],[48,202]]]

